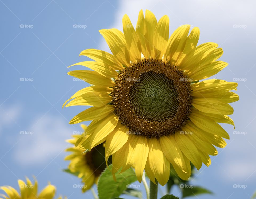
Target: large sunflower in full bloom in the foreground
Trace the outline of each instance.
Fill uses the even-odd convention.
[[[112,173],[134,166],[138,181],[143,170],[150,180],[165,185],[172,165],[187,180],[190,162],[199,170],[211,164],[229,134],[218,123],[234,126],[229,105],[239,99],[231,90],[237,83],[207,79],[228,64],[218,44],[197,46],[199,28],[182,25],[169,38],[169,18],[157,22],[154,14],[139,12],[136,27],[123,17],[123,33],[102,29],[112,54],[87,49],[80,55],[91,70],[68,74],[91,86],[76,92],[64,105],[92,106],[70,124],[92,121],[87,128],[86,149],[106,141],[106,161],[112,155]],[[169,38],[169,39],[168,39]],[[72,65],[73,66],[73,65]],[[63,105],[63,106],[64,106]],[[83,135],[82,135],[83,136]],[[76,144],[81,141],[81,138]]]

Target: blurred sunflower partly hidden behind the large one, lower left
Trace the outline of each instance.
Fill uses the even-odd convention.
[[[81,125],[84,130],[83,135],[86,134],[86,125]],[[71,144],[75,144],[80,135],[73,135],[74,139],[67,140]],[[87,142],[87,136],[82,137],[82,143]],[[100,174],[106,168],[105,163],[105,144],[99,144],[91,149],[90,152],[85,152],[85,148],[82,145],[78,147],[67,148],[66,151],[72,152],[65,157],[65,160],[70,160],[68,169],[72,173],[77,173],[79,178],[82,178],[84,185],[82,186],[82,192],[90,189],[94,183],[97,183]],[[111,162],[108,162],[111,164]]]

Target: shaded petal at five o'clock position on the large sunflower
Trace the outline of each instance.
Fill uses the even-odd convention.
[[[197,170],[199,170],[202,166],[202,160],[194,143],[187,137],[187,135],[179,132],[175,132],[175,139],[179,148],[182,149],[182,153],[195,165]]]

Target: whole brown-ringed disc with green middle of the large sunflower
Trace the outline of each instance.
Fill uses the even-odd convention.
[[[186,80],[183,71],[152,58],[123,69],[111,96],[127,133],[160,137],[180,130],[191,109],[191,82]]]

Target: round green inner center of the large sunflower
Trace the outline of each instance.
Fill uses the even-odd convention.
[[[178,91],[163,73],[142,73],[129,94],[131,108],[144,120],[162,122],[177,113]]]

